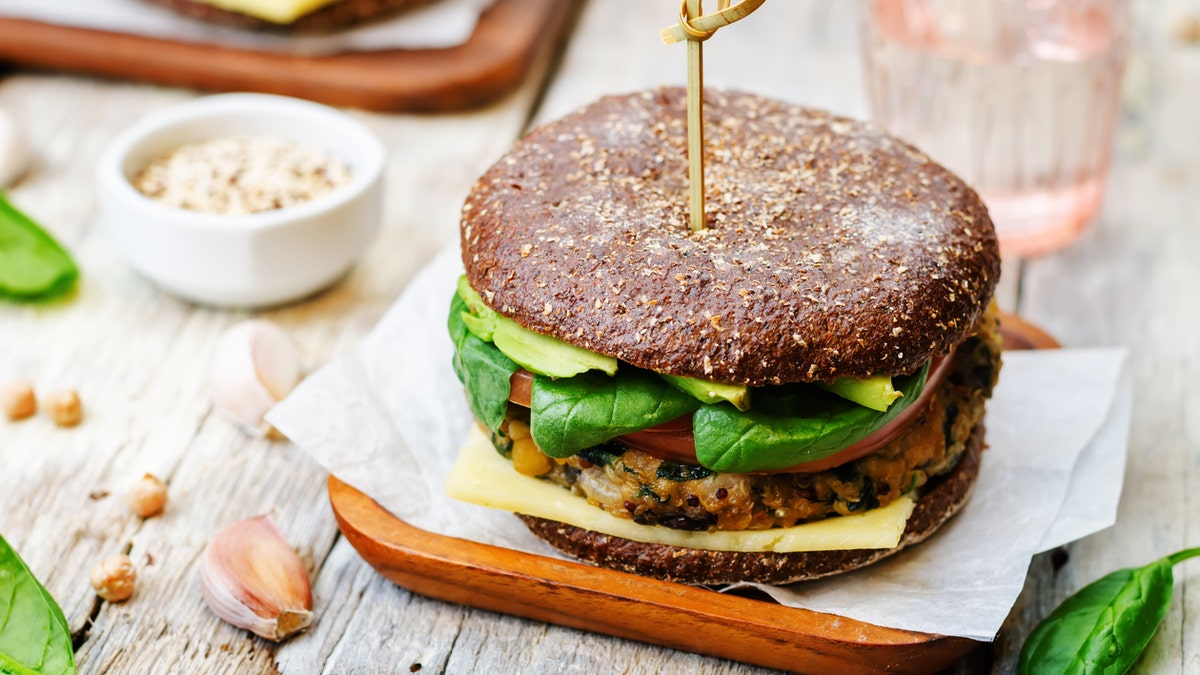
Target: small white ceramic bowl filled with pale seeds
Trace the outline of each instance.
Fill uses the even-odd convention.
[[[131,180],[152,160],[197,141],[269,135],[319,148],[352,180],[312,202],[217,215],[156,202]],[[121,133],[96,169],[100,228],[167,291],[204,304],[265,306],[314,293],[342,276],[379,227],[384,149],[362,124],[325,106],[262,94],[197,98]]]

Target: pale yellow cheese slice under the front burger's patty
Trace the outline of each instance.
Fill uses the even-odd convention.
[[[913,501],[794,527],[739,532],[688,532],[617,518],[559,485],[517,473],[473,426],[446,478],[446,495],[488,508],[535,515],[635,542],[720,551],[827,551],[890,549],[900,543]]]

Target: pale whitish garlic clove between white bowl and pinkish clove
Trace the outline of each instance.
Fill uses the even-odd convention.
[[[244,321],[217,342],[212,402],[251,434],[268,436],[272,429],[263,416],[302,375],[300,353],[283,330],[269,321]]]

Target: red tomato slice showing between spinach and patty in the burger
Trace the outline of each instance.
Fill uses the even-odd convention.
[[[950,357],[953,354],[950,352],[950,354],[936,359],[929,370],[929,376],[925,378],[925,387],[920,390],[917,400],[870,436],[827,458],[763,473],[814,473],[824,471],[866,456],[890,443],[929,407],[934,390],[937,389],[937,386],[950,369],[950,362],[953,360]],[[533,374],[520,369],[512,374],[509,386],[511,388],[509,401],[518,406],[529,407],[533,395]],[[700,461],[696,460],[696,438],[692,435],[690,414],[650,429],[625,434],[614,440],[661,460],[700,466]]]

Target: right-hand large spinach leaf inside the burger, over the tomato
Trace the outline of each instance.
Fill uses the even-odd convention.
[[[713,471],[775,471],[824,459],[887,424],[920,395],[929,364],[896,384],[904,393],[886,412],[816,387],[756,392],[755,408],[703,406],[692,417],[696,459]]]

